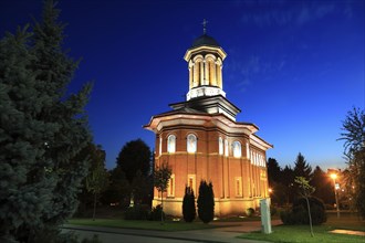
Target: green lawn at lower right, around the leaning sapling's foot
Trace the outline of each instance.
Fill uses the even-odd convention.
[[[242,239],[251,239],[269,242],[365,242],[365,236],[334,234],[328,231],[336,229],[355,230],[365,232],[365,222],[350,213],[343,213],[340,219],[335,214],[327,214],[327,222],[323,225],[314,225],[314,237],[311,237],[309,225],[279,225],[273,226],[271,234],[253,232],[242,234]]]

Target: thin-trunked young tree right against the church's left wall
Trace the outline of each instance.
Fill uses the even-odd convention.
[[[154,186],[161,193],[161,223],[164,223],[164,192],[167,190],[171,172],[171,168],[165,161],[160,167],[156,166],[154,172]]]

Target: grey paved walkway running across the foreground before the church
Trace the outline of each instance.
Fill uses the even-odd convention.
[[[192,230],[192,231],[148,231],[133,230],[118,228],[102,228],[102,226],[82,226],[65,224],[66,231],[74,231],[82,237],[91,237],[98,234],[104,243],[116,242],[247,242],[254,243],[258,241],[237,239],[242,233],[261,230],[261,222],[213,222],[212,224],[220,228],[209,230]],[[281,224],[280,220],[272,221],[272,225]],[[262,243],[262,241],[260,241]]]

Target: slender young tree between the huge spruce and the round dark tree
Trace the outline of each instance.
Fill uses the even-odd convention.
[[[86,177],[86,190],[93,193],[93,221],[95,220],[96,202],[108,186],[108,173],[105,169],[105,151],[100,146],[91,146],[91,167]]]

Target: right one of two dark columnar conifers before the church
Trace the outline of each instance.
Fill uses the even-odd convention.
[[[198,197],[198,215],[204,223],[209,223],[215,218],[215,194],[212,184],[201,180]]]

